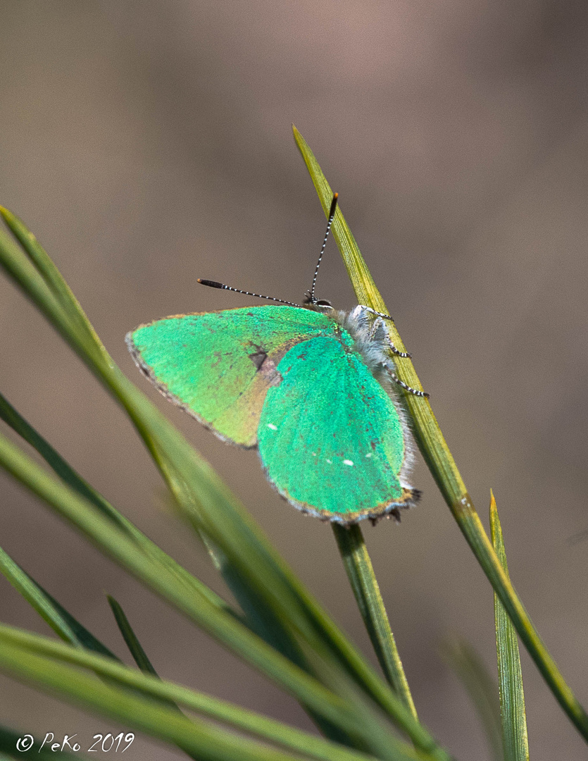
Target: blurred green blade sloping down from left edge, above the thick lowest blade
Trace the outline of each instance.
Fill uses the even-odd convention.
[[[278,743],[290,750],[305,753],[313,758],[325,759],[325,761],[365,761],[365,759],[373,757],[338,746],[336,743],[302,730],[291,728],[288,724],[266,718],[230,702],[195,692],[172,682],[160,680],[122,664],[115,664],[106,658],[75,650],[40,635],[34,635],[9,626],[0,626],[0,651],[7,642],[17,645],[30,654],[91,669],[107,678],[110,684],[116,681],[122,686],[141,691],[153,699],[173,701],[199,713],[199,715],[228,724],[234,729],[253,734],[272,743]],[[412,748],[399,740],[393,739],[392,745],[396,752],[395,757],[402,759],[431,758],[426,754],[418,755]]]

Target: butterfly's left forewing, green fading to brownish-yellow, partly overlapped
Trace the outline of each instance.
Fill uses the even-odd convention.
[[[253,447],[265,395],[281,382],[281,357],[326,330],[332,321],[323,314],[268,305],[167,317],[126,340],[168,399],[224,440]]]

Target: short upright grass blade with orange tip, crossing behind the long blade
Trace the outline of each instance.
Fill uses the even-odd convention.
[[[492,544],[508,574],[501,521],[494,495],[490,498],[490,530]],[[519,642],[504,605],[494,593],[494,626],[498,661],[498,686],[501,698],[502,737],[505,761],[529,761],[523,672],[520,667]]]

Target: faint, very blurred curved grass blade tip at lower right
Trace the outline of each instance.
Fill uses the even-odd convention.
[[[501,712],[495,681],[474,648],[467,642],[445,642],[442,653],[475,706],[495,761],[504,761]]]

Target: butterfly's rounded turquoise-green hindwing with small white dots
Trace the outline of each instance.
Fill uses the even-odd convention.
[[[401,483],[405,423],[351,344],[343,331],[290,349],[258,432],[259,455],[278,491],[295,507],[344,524],[397,514],[417,498]]]

